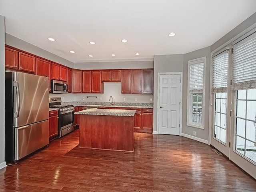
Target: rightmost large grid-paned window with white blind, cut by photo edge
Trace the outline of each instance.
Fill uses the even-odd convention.
[[[233,45],[232,85],[236,91],[235,151],[256,164],[256,33]]]

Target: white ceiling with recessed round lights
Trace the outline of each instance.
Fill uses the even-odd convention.
[[[71,62],[188,53],[212,45],[254,12],[256,0],[0,0],[6,33]]]

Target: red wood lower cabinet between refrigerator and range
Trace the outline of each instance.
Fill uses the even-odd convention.
[[[58,118],[58,110],[49,111],[49,140],[53,140],[58,136]]]

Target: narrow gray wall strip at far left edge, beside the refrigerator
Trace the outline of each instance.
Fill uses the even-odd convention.
[[[4,162],[4,16],[0,15],[0,169]]]

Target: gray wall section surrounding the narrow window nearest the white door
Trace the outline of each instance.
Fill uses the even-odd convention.
[[[206,56],[205,65],[205,100],[204,100],[204,129],[187,126],[187,101],[188,101],[188,61]],[[183,98],[182,98],[182,133],[193,136],[196,131],[196,137],[208,140],[209,133],[209,99],[210,99],[210,46],[184,54],[183,67]]]

